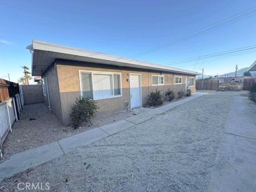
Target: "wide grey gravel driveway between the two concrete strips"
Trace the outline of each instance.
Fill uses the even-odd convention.
[[[50,183],[50,191],[204,192],[224,132],[232,96],[211,92],[58,159],[8,178]]]

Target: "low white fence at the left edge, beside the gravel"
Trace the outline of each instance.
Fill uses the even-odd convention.
[[[0,157],[2,156],[2,144],[4,139],[9,132],[12,132],[12,125],[15,120],[18,121],[16,104],[18,106],[18,113],[20,113],[23,105],[19,94],[16,94],[15,98],[9,98],[0,103]]]

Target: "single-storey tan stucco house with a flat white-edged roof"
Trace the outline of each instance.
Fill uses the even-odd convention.
[[[141,107],[151,90],[170,88],[175,92],[190,88],[201,73],[152,64],[87,50],[33,40],[32,75],[42,76],[46,105],[62,122],[70,123],[71,106],[79,96],[92,97],[106,116]]]

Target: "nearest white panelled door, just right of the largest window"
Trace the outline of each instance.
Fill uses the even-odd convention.
[[[131,108],[141,106],[140,103],[140,75],[130,75]]]

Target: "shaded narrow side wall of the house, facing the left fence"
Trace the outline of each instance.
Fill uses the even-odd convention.
[[[58,73],[56,65],[52,64],[51,66],[49,66],[49,68],[46,70],[46,72],[44,72],[44,74],[47,76],[51,112],[56,116],[56,118],[58,118],[58,120],[60,120],[60,122],[63,122],[62,108],[60,103],[60,89],[58,84]],[[44,96],[44,103],[46,106],[49,106],[46,77],[42,75],[42,79],[44,79],[46,92],[46,96]]]

